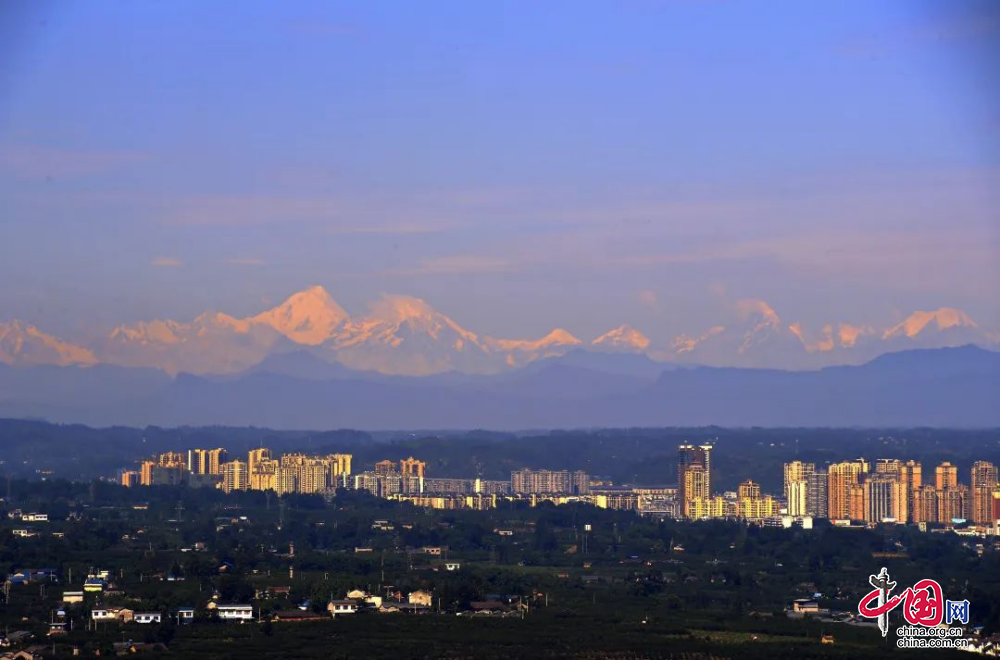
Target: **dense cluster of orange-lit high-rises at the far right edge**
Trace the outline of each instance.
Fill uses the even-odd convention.
[[[917,461],[859,458],[825,469],[793,461],[785,464],[785,498],[790,515],[831,520],[992,525],[1000,519],[997,468],[988,461],[972,464],[968,484],[947,461],[926,480]]]

